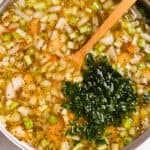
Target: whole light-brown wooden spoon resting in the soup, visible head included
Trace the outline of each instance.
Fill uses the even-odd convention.
[[[104,21],[104,23],[92,35],[90,40],[77,52],[67,56],[77,64],[80,70],[84,62],[84,58],[89,50],[98,42],[98,40],[121,18],[121,16],[136,2],[136,0],[122,0],[111,15]]]

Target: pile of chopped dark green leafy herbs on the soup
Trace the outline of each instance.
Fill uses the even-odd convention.
[[[105,142],[105,127],[120,125],[137,104],[130,80],[114,70],[106,58],[95,61],[91,54],[86,58],[83,82],[64,82],[63,92],[65,106],[76,116],[69,133],[96,143]],[[79,124],[81,118],[85,121]]]

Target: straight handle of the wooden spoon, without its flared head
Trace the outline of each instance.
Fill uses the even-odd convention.
[[[122,0],[104,23],[97,29],[90,40],[81,48],[82,57],[85,57],[89,50],[98,40],[121,18],[121,16],[136,2],[136,0]]]

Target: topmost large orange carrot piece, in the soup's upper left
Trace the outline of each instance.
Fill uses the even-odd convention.
[[[35,35],[39,32],[40,29],[40,21],[39,19],[32,19],[29,23],[29,33],[31,35]]]

